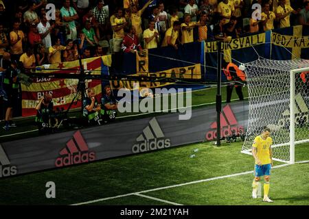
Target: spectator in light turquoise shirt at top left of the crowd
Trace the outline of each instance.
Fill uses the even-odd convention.
[[[76,40],[77,29],[75,21],[78,20],[79,16],[76,10],[70,7],[70,0],[65,0],[63,7],[60,9],[60,13],[63,21],[69,23],[69,34],[67,34],[67,39]]]

